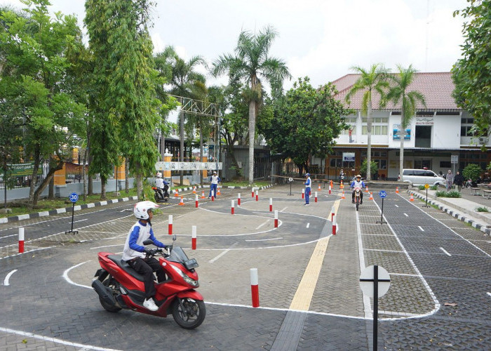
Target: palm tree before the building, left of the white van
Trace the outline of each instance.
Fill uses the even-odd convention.
[[[372,162],[372,94],[379,93],[380,102],[384,100],[385,89],[389,88],[387,81],[387,69],[381,63],[375,63],[367,71],[362,67],[354,66],[352,70],[360,74],[360,78],[353,84],[347,93],[345,100],[349,103],[351,97],[358,91],[364,91],[361,102],[361,112],[367,117],[367,180],[370,180]]]

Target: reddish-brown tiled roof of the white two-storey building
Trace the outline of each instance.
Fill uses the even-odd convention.
[[[344,105],[348,106],[344,101],[347,93],[358,80],[360,74],[347,74],[332,82],[339,91],[335,98],[341,100]],[[416,73],[415,80],[409,86],[410,91],[419,91],[424,95],[426,107],[418,106],[418,110],[462,110],[457,107],[455,100],[452,98],[452,91],[455,86],[452,81],[452,73],[450,72],[425,72]],[[349,107],[355,110],[361,110],[361,99],[363,91],[358,91],[352,98]],[[379,108],[379,95],[375,93],[372,96],[372,106],[374,110],[401,110],[401,104],[394,106],[389,102],[384,109]]]

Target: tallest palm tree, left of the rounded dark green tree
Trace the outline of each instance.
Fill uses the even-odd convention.
[[[291,74],[283,60],[268,56],[269,48],[276,38],[273,27],[267,26],[257,34],[243,31],[238,36],[236,55],[222,55],[213,62],[213,76],[221,76],[225,72],[230,77],[243,79],[247,82],[249,103],[249,184],[254,183],[254,139],[256,124],[256,104],[262,98],[260,77],[276,83],[290,78]]]

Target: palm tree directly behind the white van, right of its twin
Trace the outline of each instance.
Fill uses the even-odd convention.
[[[401,108],[401,128],[399,128],[399,135],[401,137],[401,151],[399,155],[399,176],[403,174],[403,162],[404,162],[404,134],[405,128],[410,124],[412,117],[416,112],[417,103],[426,106],[424,101],[424,95],[419,91],[408,91],[409,86],[415,79],[416,69],[409,65],[407,69],[397,66],[398,73],[390,76],[391,81],[394,82],[394,86],[391,86],[389,93],[387,93],[387,100],[390,100],[394,105],[402,102]]]

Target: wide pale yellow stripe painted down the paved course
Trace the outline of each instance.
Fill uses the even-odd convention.
[[[339,208],[339,201],[334,203],[335,212]],[[330,220],[332,212],[330,211],[328,219]],[[304,276],[298,285],[297,292],[293,296],[292,303],[290,304],[290,310],[308,311],[312,296],[314,296],[314,290],[318,281],[319,274],[321,273],[322,263],[325,257],[325,251],[328,249],[329,238],[325,237],[317,241],[316,247],[312,256],[310,257],[309,264],[305,269]]]

